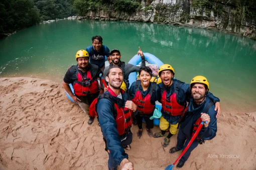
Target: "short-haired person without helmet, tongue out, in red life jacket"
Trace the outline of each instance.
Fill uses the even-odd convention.
[[[151,128],[154,127],[153,120],[150,117],[153,115],[155,110],[155,90],[157,87],[156,82],[151,82],[152,70],[148,66],[143,66],[139,70],[140,79],[133,82],[129,88],[128,93],[130,94],[132,100],[137,105],[136,119],[139,127],[137,132],[138,137],[142,136],[142,120],[146,121],[146,130],[149,136],[152,136]]]

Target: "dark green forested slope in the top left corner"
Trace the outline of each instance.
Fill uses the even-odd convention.
[[[0,34],[76,14],[73,0],[1,0]]]

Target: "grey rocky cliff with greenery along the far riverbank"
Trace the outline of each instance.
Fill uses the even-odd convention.
[[[127,13],[115,11],[110,5],[88,11],[84,17],[187,25],[256,39],[255,4],[238,5],[237,0],[142,0],[141,6],[139,10]]]

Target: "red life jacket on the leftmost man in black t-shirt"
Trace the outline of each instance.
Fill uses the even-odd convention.
[[[86,96],[99,91],[99,84],[96,78],[91,76],[91,71],[86,71],[86,77],[83,76],[82,71],[76,67],[76,80],[73,82],[73,88],[77,96]]]

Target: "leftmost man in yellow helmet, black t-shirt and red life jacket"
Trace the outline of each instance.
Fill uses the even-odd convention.
[[[81,49],[76,52],[77,65],[71,66],[64,78],[63,87],[75,102],[78,102],[82,110],[89,115],[89,105],[98,96],[98,77],[101,70],[97,65],[89,63],[89,54]],[[101,80],[100,80],[101,82]],[[69,83],[73,85],[75,95],[71,91]],[[88,124],[91,125],[94,117],[89,116]]]

